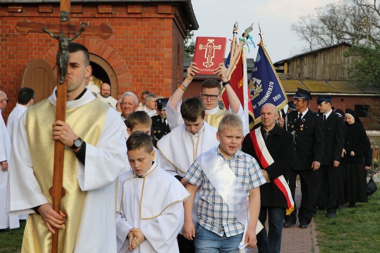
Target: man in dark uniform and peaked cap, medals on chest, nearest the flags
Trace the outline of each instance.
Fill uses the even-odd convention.
[[[289,170],[289,188],[293,199],[295,194],[295,180],[299,174],[301,182],[301,204],[298,211],[299,228],[308,228],[312,220],[315,193],[314,171],[319,169],[324,147],[323,120],[322,117],[309,109],[311,93],[298,88],[293,97],[297,111],[289,113],[286,117],[286,128],[293,134],[295,158],[293,168]],[[295,225],[296,209],[285,216],[284,227]]]

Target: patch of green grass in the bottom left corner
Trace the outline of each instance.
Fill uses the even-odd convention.
[[[24,228],[25,222],[20,222],[19,228],[0,233],[0,253],[21,252]]]

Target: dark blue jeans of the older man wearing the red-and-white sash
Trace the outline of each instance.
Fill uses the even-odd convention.
[[[267,229],[265,229],[267,211],[269,224],[268,236]],[[261,206],[258,220],[262,223],[264,228],[256,236],[258,252],[280,252],[284,215],[285,208]]]

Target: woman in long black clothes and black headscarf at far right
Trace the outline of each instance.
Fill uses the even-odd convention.
[[[346,201],[350,202],[349,207],[355,207],[356,202],[367,202],[363,173],[367,134],[355,111],[346,109],[345,122],[346,138],[342,157],[346,164]]]

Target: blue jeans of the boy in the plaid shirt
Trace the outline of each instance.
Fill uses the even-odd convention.
[[[218,236],[197,223],[195,226],[194,246],[196,253],[239,253],[239,244],[243,238],[243,233],[227,237]]]

